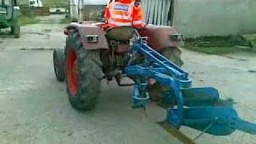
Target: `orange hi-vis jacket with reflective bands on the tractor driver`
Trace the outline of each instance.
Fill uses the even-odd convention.
[[[106,6],[105,18],[108,22],[107,25],[110,27],[134,26],[141,28],[145,26],[142,6],[135,6],[134,0],[110,2]]]

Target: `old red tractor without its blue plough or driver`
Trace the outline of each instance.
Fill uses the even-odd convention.
[[[82,23],[66,27],[66,47],[54,50],[54,71],[58,81],[66,79],[67,94],[70,104],[79,110],[89,110],[98,101],[101,81],[115,78],[122,84],[123,70],[129,61],[130,39],[133,34],[129,28],[102,30],[103,23]],[[139,34],[160,54],[182,66],[181,37],[171,26],[146,26]],[[143,61],[141,54],[136,55],[136,62]],[[102,75],[104,74],[104,75]],[[133,78],[131,78],[133,79]],[[151,86],[151,95],[157,95],[162,86]]]

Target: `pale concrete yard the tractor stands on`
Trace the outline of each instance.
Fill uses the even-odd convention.
[[[0,38],[0,144],[178,144],[155,122],[165,118],[158,106],[132,110],[132,88],[102,82],[95,110],[74,110],[64,83],[54,75],[52,48],[65,45],[62,24],[23,26],[21,38]],[[46,50],[36,50],[45,48]],[[33,50],[34,49],[34,50]],[[226,56],[182,50],[184,69],[194,86],[214,86],[234,98],[242,118],[256,122],[256,54]],[[199,134],[182,127],[190,138]],[[205,134],[198,143],[256,143],[254,135],[236,131],[226,137]]]

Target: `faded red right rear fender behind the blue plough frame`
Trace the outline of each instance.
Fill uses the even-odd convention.
[[[148,37],[148,45],[154,50],[162,51],[166,47],[179,47],[180,40],[172,39],[178,31],[172,26],[155,26],[148,25],[139,31],[142,37]]]

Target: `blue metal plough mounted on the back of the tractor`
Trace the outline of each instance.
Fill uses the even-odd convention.
[[[133,55],[143,54],[146,61],[134,65],[135,58],[130,58],[125,72],[132,77],[154,78],[167,87],[163,102],[175,106],[167,109],[168,124],[177,129],[188,126],[213,135],[229,135],[234,130],[256,134],[256,124],[239,118],[231,102],[219,97],[218,90],[212,87],[193,88],[192,80],[185,70],[147,46],[142,38],[134,40],[133,46]],[[149,85],[148,81],[137,79],[134,86],[134,108],[145,107],[150,102]]]

